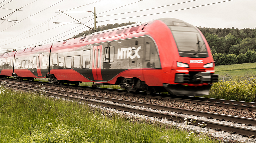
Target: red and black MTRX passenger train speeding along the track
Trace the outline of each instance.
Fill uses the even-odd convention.
[[[200,30],[160,18],[0,54],[0,77],[48,78],[53,84],[93,82],[127,92],[208,95],[218,74]]]

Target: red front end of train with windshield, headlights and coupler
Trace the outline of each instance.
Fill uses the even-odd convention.
[[[159,20],[168,26],[172,35],[169,41],[172,43],[171,70],[167,77],[169,82],[163,83],[164,88],[173,95],[209,95],[211,84],[218,82],[218,74],[214,74],[215,64],[203,34],[178,19]]]

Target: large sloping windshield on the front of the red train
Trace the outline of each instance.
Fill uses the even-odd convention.
[[[181,57],[209,57],[200,33],[195,27],[168,26]]]

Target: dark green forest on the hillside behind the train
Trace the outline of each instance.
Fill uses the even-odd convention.
[[[135,24],[135,22],[115,23],[98,26],[96,31]],[[207,28],[197,27],[205,36],[216,65],[256,62],[256,27],[251,28]],[[73,38],[88,35],[93,30],[86,30]]]

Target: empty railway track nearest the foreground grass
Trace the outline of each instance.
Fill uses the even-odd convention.
[[[24,84],[15,84],[15,83],[7,83],[9,87],[19,88],[22,90],[37,90],[37,92],[41,92],[41,89],[35,88],[34,86],[24,85]],[[189,118],[195,121],[194,125],[201,124],[204,122],[206,127],[215,130],[221,130],[230,133],[236,133],[240,135],[245,135],[248,137],[256,136],[256,130],[246,128],[246,126],[256,126],[256,119],[250,118],[243,118],[243,117],[236,117],[236,116],[229,116],[229,115],[222,115],[222,114],[214,114],[209,112],[201,112],[195,110],[187,110],[187,109],[180,109],[180,108],[173,108],[169,106],[161,106],[156,104],[148,104],[148,103],[141,103],[141,102],[133,102],[127,100],[120,100],[120,99],[113,99],[113,98],[106,98],[101,96],[94,96],[94,95],[86,95],[86,94],[79,94],[74,92],[62,91],[62,90],[55,90],[45,88],[44,93],[57,96],[61,98],[66,98],[70,100],[81,101],[89,104],[94,104],[98,106],[105,106],[109,108],[114,108],[117,110],[122,110],[125,112],[136,112],[137,114],[143,114],[146,116],[153,116],[157,118],[163,118],[170,121],[176,122],[184,122],[184,118],[187,116],[181,116],[179,114],[187,114],[187,115],[194,115],[194,116],[204,116],[208,119],[214,118],[218,119],[219,121],[229,121],[230,123],[241,123],[246,124],[244,127],[237,127],[232,126],[230,124],[221,124],[218,123],[219,121],[209,121],[208,119],[196,119],[196,118]],[[102,91],[103,92],[103,91]],[[107,92],[107,91],[104,91]],[[108,102],[103,102],[108,101]],[[209,101],[208,101],[209,102]],[[124,105],[126,104],[126,105]],[[128,106],[127,106],[128,105]],[[143,107],[143,109],[136,108],[136,107]],[[151,110],[149,110],[151,109]],[[152,111],[152,109],[154,111]],[[161,112],[160,112],[161,111]],[[176,113],[175,113],[176,112]]]

